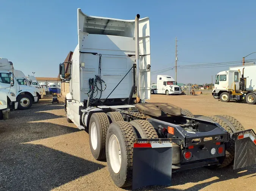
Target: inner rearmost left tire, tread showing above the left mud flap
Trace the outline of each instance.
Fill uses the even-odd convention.
[[[158,135],[155,128],[147,120],[130,121],[138,138],[140,139],[157,139]]]

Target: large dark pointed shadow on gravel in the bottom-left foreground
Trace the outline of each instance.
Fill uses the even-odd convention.
[[[14,144],[0,154],[0,190],[48,191],[104,165],[42,145]]]

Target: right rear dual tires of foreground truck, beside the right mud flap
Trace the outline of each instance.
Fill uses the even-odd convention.
[[[242,124],[235,119],[232,116],[228,115],[218,115],[218,116],[200,116],[198,119],[201,120],[207,120],[210,122],[215,122],[220,124],[228,133],[234,132],[232,129],[235,129],[236,131],[243,131],[245,128],[242,126]],[[228,142],[225,143],[225,149],[226,149],[226,155],[225,157],[219,157],[219,160],[221,162],[221,165],[213,165],[209,166],[209,168],[223,168],[225,166],[230,165],[235,157],[235,141],[232,139],[229,139]]]

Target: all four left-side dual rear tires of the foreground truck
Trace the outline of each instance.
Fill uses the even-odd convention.
[[[96,160],[107,159],[113,182],[118,187],[132,185],[133,143],[136,138],[158,138],[146,120],[125,122],[119,112],[94,113],[90,119],[89,142]]]

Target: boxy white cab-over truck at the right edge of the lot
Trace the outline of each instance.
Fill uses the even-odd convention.
[[[234,66],[216,75],[212,95],[222,102],[256,103],[256,65]]]

